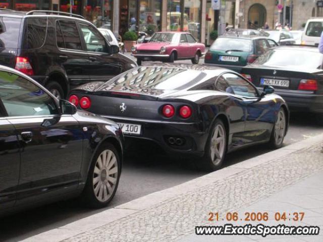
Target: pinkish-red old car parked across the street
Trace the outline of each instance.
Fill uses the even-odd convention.
[[[198,43],[190,33],[157,32],[148,43],[137,44],[131,51],[139,66],[142,61],[173,63],[177,59],[191,59],[193,64],[198,64],[205,45]]]

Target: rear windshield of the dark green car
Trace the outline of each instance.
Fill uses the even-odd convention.
[[[251,51],[250,39],[241,38],[218,38],[211,46],[211,50],[235,50],[250,52]]]

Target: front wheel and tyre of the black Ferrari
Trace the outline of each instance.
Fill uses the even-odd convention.
[[[283,107],[277,113],[276,122],[272,131],[270,146],[273,149],[279,149],[283,146],[284,138],[286,135],[287,119]]]

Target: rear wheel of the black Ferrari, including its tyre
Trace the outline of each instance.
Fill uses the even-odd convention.
[[[223,122],[217,119],[208,136],[205,153],[200,167],[214,171],[222,167],[227,153],[227,132]]]

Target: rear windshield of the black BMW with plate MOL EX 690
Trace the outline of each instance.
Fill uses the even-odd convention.
[[[323,55],[301,49],[272,49],[256,59],[253,64],[266,66],[295,66],[320,69]]]

